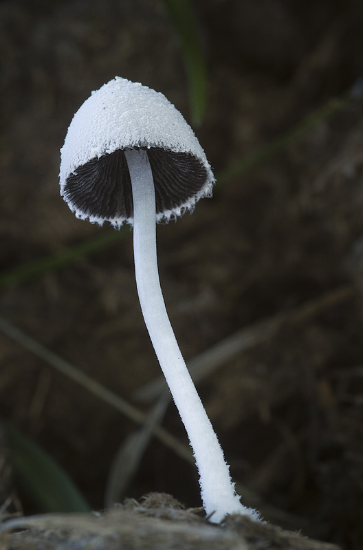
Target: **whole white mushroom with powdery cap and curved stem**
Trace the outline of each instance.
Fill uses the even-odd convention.
[[[181,113],[153,89],[115,77],[83,103],[61,149],[61,195],[80,219],[133,225],[142,314],[184,422],[212,522],[258,512],[240,503],[166,313],[159,283],[155,222],[176,219],[209,197],[214,177]]]

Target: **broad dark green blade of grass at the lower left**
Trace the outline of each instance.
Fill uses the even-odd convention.
[[[11,423],[4,426],[14,476],[41,511],[91,511],[69,475],[45,450]]]

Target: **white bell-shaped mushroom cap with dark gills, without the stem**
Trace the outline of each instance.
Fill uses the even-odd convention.
[[[148,149],[156,221],[210,196],[210,164],[181,113],[163,94],[116,76],[78,109],[61,149],[61,195],[78,218],[132,225],[126,148]]]

